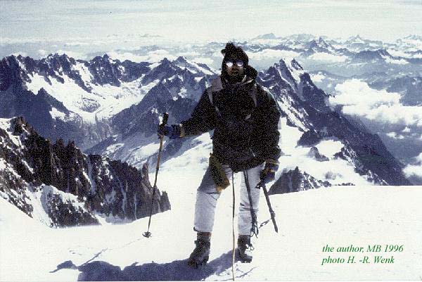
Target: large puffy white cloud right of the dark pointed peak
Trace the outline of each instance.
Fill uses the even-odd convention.
[[[359,79],[349,79],[343,84],[337,84],[335,91],[338,94],[330,97],[329,102],[331,105],[342,105],[343,113],[347,115],[401,128],[422,128],[422,107],[402,105],[397,93],[371,89],[366,82]]]

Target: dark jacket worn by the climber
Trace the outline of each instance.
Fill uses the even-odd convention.
[[[181,122],[184,136],[215,129],[213,154],[234,172],[280,157],[280,113],[271,94],[255,82],[256,76],[257,71],[247,66],[242,82],[231,84],[224,76],[217,77],[191,118]]]

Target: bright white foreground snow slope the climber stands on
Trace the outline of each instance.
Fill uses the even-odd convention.
[[[49,229],[0,199],[0,280],[218,280],[231,279],[231,187],[217,204],[210,262],[189,269],[193,250],[193,207],[209,136],[160,167],[158,186],[169,193],[172,210],[148,219]],[[153,174],[150,174],[150,179]],[[240,174],[235,177],[236,196]],[[254,259],[236,262],[236,280],[417,280],[422,277],[422,187],[333,186],[271,196],[279,233],[269,224],[254,239]],[[237,205],[236,205],[237,213]],[[269,219],[262,195],[258,221]],[[235,223],[235,226],[237,224]],[[322,248],[397,244],[395,253],[324,253]],[[367,255],[370,264],[325,264],[324,257]],[[373,257],[394,255],[394,264]],[[69,262],[71,261],[71,262]],[[60,265],[60,267],[58,267]]]

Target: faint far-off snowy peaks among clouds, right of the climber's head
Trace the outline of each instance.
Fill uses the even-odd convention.
[[[286,37],[272,34],[243,44],[245,49],[254,46],[248,51],[260,68],[264,68],[262,63],[268,65],[269,58],[273,59],[271,63],[280,57],[295,58],[308,71],[324,70],[350,77],[371,72],[388,72],[389,76],[420,75],[422,64],[422,40],[418,36],[389,43],[363,39],[359,35],[343,40],[312,34]]]

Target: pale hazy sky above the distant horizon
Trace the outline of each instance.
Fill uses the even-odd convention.
[[[422,34],[418,1],[0,1],[0,43],[156,34],[181,41]]]

